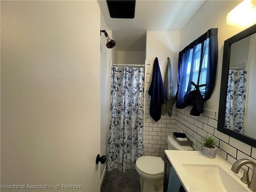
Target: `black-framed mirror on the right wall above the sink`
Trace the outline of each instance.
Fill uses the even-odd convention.
[[[224,41],[218,131],[256,147],[256,24]]]

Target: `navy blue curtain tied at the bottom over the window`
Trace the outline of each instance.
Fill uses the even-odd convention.
[[[218,29],[209,29],[179,53],[176,107],[193,105],[199,116],[212,94],[218,61]]]

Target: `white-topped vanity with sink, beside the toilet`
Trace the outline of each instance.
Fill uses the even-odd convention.
[[[211,159],[203,156],[200,151],[179,150],[165,150],[164,192],[168,190],[170,166],[187,192],[251,192],[247,184],[240,181],[243,172],[232,172],[232,164],[218,154]]]

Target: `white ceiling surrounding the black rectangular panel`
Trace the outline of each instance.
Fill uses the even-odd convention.
[[[119,19],[110,18],[106,0],[98,0],[118,51],[145,51],[146,31],[182,30],[204,2],[205,0],[136,0],[134,19]]]

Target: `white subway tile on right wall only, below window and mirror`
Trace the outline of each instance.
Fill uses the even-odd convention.
[[[255,148],[217,130],[217,112],[204,109],[204,113],[197,117],[189,115],[191,108],[192,106],[182,110],[176,108],[176,115],[178,116],[176,116],[176,125],[178,130],[181,128],[181,132],[185,133],[193,141],[194,150],[201,149],[200,142],[202,142],[202,136],[213,136],[218,141],[216,144],[218,148],[217,153],[230,163],[233,163],[234,159],[240,158],[249,158],[254,160],[254,162],[256,161]],[[180,114],[183,114],[183,112],[187,114],[188,122],[190,122],[189,126],[186,124],[186,129],[183,128],[185,124],[182,124],[184,118],[180,118]]]

